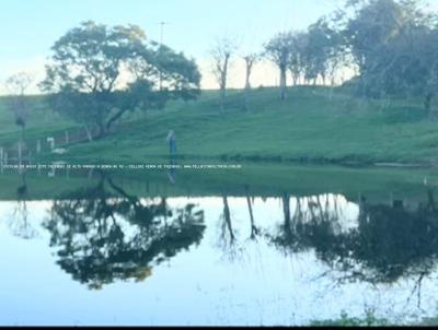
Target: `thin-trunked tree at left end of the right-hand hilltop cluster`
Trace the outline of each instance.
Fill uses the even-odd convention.
[[[287,70],[290,63],[291,37],[290,33],[280,33],[265,45],[267,57],[280,71],[280,99],[286,99]]]

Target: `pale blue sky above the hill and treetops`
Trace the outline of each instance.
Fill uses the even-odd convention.
[[[438,8],[438,0],[436,2]],[[208,51],[219,37],[237,38],[240,52],[260,50],[281,31],[306,28],[328,14],[343,0],[1,0],[0,82],[19,71],[41,78],[50,47],[81,22],[137,24],[151,39],[194,57],[211,87]],[[231,86],[243,84],[238,76],[242,63],[234,63]],[[266,64],[255,74],[257,83],[274,84],[276,75]]]

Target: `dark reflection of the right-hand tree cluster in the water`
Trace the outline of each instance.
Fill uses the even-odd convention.
[[[436,264],[438,212],[434,192],[415,210],[403,204],[359,203],[357,226],[343,231],[336,200],[328,205],[320,198],[298,199],[289,217],[289,198],[283,197],[285,222],[269,238],[290,251],[314,249],[320,260],[342,271],[343,281],[391,283],[416,275],[419,281]],[[420,285],[420,282],[419,284]]]

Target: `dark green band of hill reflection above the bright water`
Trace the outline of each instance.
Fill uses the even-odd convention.
[[[61,195],[100,182],[99,172],[89,170],[27,172],[26,199],[56,199]],[[113,170],[114,182],[127,192],[141,197],[298,197],[339,193],[356,202],[362,195],[370,202],[390,202],[392,198],[422,201],[428,187],[438,187],[434,169],[343,168],[336,166],[297,166],[288,164],[243,164],[240,169],[178,169],[172,184],[166,170]],[[15,200],[24,184],[16,170],[0,174],[0,200]],[[111,189],[110,189],[111,190]]]

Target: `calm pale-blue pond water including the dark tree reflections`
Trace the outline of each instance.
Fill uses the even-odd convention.
[[[1,325],[290,326],[367,310],[408,322],[438,311],[430,189],[412,203],[142,198],[111,179],[51,200],[25,190],[0,201]]]

